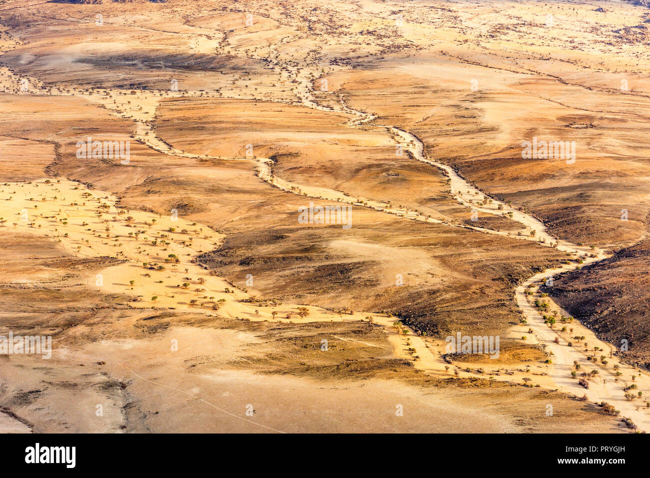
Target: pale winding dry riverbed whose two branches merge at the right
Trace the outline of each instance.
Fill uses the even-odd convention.
[[[290,181],[285,181],[281,178],[278,178],[273,174],[272,161],[268,158],[224,158],[224,157],[207,157],[205,155],[196,155],[192,153],[185,153],[179,150],[176,150],[173,146],[170,146],[164,140],[157,137],[155,130],[151,126],[151,118],[153,117],[152,109],[151,113],[148,114],[148,117],[138,118],[133,116],[133,112],[120,111],[118,107],[109,103],[107,98],[104,98],[101,94],[79,94],[93,101],[98,101],[105,107],[113,109],[113,113],[121,116],[123,118],[129,118],[136,122],[136,132],[134,137],[137,140],[140,140],[147,146],[161,152],[175,156],[188,157],[188,158],[211,158],[211,159],[228,159],[235,161],[253,161],[256,165],[257,175],[259,178],[263,179],[270,185],[277,187],[287,193],[300,194],[302,196],[307,196],[310,198],[319,198],[324,200],[333,200],[338,202],[344,202],[347,204],[354,204],[359,207],[368,207],[382,213],[389,213],[393,215],[398,215],[404,217],[405,219],[410,220],[421,220],[424,222],[433,222],[435,224],[445,224],[447,226],[467,228],[471,230],[476,230],[482,233],[489,233],[492,235],[500,235],[509,238],[515,238],[526,241],[534,241],[539,243],[540,246],[556,247],[562,252],[571,254],[574,258],[582,259],[583,265],[588,263],[594,263],[600,261],[606,257],[604,250],[599,248],[591,249],[588,246],[578,246],[569,241],[564,241],[562,239],[557,239],[553,237],[551,233],[548,232],[545,224],[540,220],[536,219],[532,215],[519,211],[514,207],[509,206],[504,202],[500,202],[495,198],[486,196],[485,193],[479,191],[471,184],[469,184],[464,178],[462,178],[453,168],[444,163],[439,163],[434,161],[426,156],[424,153],[424,145],[421,140],[419,140],[415,135],[408,133],[402,129],[398,129],[394,126],[385,126],[380,124],[374,124],[376,116],[373,116],[369,113],[364,113],[362,111],[356,111],[348,107],[342,96],[339,96],[339,105],[337,108],[324,107],[318,104],[318,101],[313,98],[311,94],[312,85],[311,85],[311,73],[306,70],[300,70],[295,67],[289,67],[289,75],[298,81],[297,88],[297,98],[300,103],[312,109],[318,109],[321,111],[331,111],[335,113],[347,113],[354,116],[354,119],[350,121],[350,124],[353,126],[364,127],[372,126],[376,128],[385,129],[391,134],[395,139],[396,144],[399,144],[405,150],[411,153],[412,157],[428,165],[432,165],[435,168],[438,168],[447,176],[449,179],[450,195],[458,201],[459,204],[472,208],[478,212],[487,213],[491,215],[508,215],[512,220],[515,220],[522,225],[522,229],[526,230],[527,233],[518,235],[513,232],[500,232],[495,230],[489,230],[486,228],[479,228],[475,226],[467,226],[465,224],[459,224],[453,222],[452,220],[443,220],[443,219],[434,219],[431,217],[426,217],[418,211],[411,211],[409,209],[393,207],[390,204],[385,202],[380,202],[377,200],[372,200],[372,198],[359,198],[357,196],[351,196],[344,193],[343,191],[334,191],[332,189],[316,187],[312,185],[300,185],[297,183],[291,183]],[[63,94],[63,93],[61,93]],[[69,94],[69,93],[68,93]],[[174,96],[180,96],[175,94]],[[198,96],[192,93],[187,94],[187,96]],[[227,97],[227,95],[224,95]],[[130,97],[133,98],[133,97]],[[204,96],[205,98],[205,96]],[[232,98],[235,98],[233,95]],[[149,99],[151,101],[151,98]],[[156,100],[157,103],[158,100]],[[151,105],[148,105],[151,106]],[[155,108],[155,105],[153,105]],[[481,202],[479,206],[476,202]],[[645,430],[650,428],[650,419],[648,410],[643,406],[644,404],[640,400],[628,401],[625,399],[625,390],[627,386],[632,384],[631,377],[634,375],[634,384],[638,386],[638,389],[643,390],[644,392],[650,390],[650,376],[644,371],[638,371],[630,365],[620,362],[616,356],[613,356],[612,353],[616,351],[614,347],[608,343],[604,343],[599,340],[593,332],[588,328],[574,321],[571,323],[571,328],[574,329],[574,336],[584,336],[585,339],[581,341],[575,341],[575,345],[569,346],[569,341],[572,341],[571,336],[568,332],[562,332],[560,327],[550,328],[547,324],[544,323],[544,319],[541,313],[536,310],[536,308],[531,304],[531,300],[535,297],[539,297],[538,291],[536,291],[536,284],[541,280],[545,280],[548,276],[554,276],[571,269],[576,269],[580,267],[580,264],[577,262],[571,262],[566,265],[563,265],[557,269],[549,269],[547,271],[539,272],[535,274],[526,282],[519,285],[514,293],[514,299],[519,307],[519,310],[522,313],[522,317],[525,318],[526,324],[515,327],[515,333],[519,333],[524,330],[527,330],[530,327],[533,330],[534,340],[539,343],[542,347],[545,348],[547,352],[551,353],[551,364],[549,364],[548,370],[549,375],[551,375],[554,384],[562,390],[563,392],[571,393],[577,396],[582,396],[586,394],[588,399],[592,402],[607,402],[614,405],[617,410],[620,410],[621,415],[628,417],[638,425],[639,429]],[[526,295],[526,290],[533,291],[532,295]],[[551,305],[551,309],[558,310],[562,315],[568,316],[565,311],[562,311],[551,298],[545,298],[548,300]],[[391,320],[388,318],[378,318],[378,323],[385,326],[389,336],[394,336],[395,334],[391,331]],[[520,332],[521,330],[521,332]],[[556,343],[558,339],[559,343]],[[393,343],[397,348],[396,338],[392,338]],[[428,349],[428,343],[425,339],[419,337],[411,337],[413,341],[413,346],[417,350],[417,353],[421,356],[420,362],[416,362],[416,366],[422,369],[433,369],[434,367],[439,368],[439,358],[435,357],[432,352]],[[582,342],[588,343],[589,347],[583,347]],[[580,342],[580,347],[578,343]],[[586,345],[586,344],[585,344]],[[583,349],[593,349],[597,347],[602,349],[602,351],[588,351]],[[601,363],[595,363],[597,361],[588,360],[590,355],[609,355],[608,357],[608,366],[604,366]],[[597,369],[599,374],[595,378],[590,378],[590,388],[585,389],[582,386],[578,385],[577,378],[571,377],[571,371],[575,371],[574,363],[586,365],[591,369]],[[616,372],[612,370],[612,367],[617,365],[618,372],[621,375],[616,375]]]

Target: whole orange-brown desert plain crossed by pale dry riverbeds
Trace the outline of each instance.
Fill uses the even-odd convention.
[[[0,1],[0,431],[649,431],[649,44],[643,0]]]

